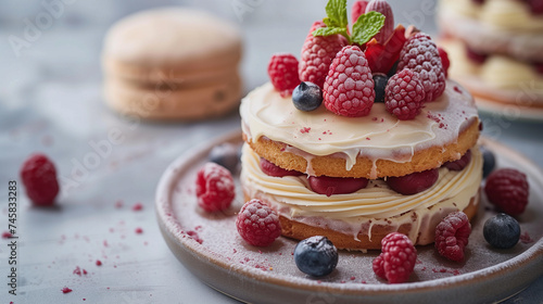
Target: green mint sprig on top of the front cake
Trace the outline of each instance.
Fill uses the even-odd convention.
[[[384,15],[378,12],[367,12],[358,17],[353,25],[352,35],[349,35],[349,20],[346,16],[346,0],[329,0],[326,4],[327,17],[323,20],[326,27],[317,28],[313,36],[343,35],[349,43],[364,45],[374,37],[384,25]]]

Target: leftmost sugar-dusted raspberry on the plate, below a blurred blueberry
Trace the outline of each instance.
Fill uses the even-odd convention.
[[[209,162],[198,172],[197,198],[204,211],[224,211],[230,206],[235,195],[233,178],[227,168]]]

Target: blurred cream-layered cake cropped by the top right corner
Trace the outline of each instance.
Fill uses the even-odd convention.
[[[476,99],[543,109],[543,2],[441,0],[450,77]]]

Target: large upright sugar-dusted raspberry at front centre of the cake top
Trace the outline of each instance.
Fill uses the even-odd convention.
[[[366,116],[375,100],[374,78],[361,48],[344,47],[333,59],[323,98],[326,109],[348,117]]]

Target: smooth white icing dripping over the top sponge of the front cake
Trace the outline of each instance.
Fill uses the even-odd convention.
[[[294,147],[291,151],[303,156],[344,156],[348,170],[357,156],[408,162],[417,151],[455,142],[459,132],[478,117],[472,97],[451,80],[445,92],[426,103],[412,121],[399,121],[383,103],[375,103],[364,117],[339,116],[324,105],[302,112],[269,83],[242,100],[240,114],[243,132],[251,140],[265,136]]]

